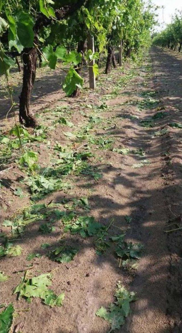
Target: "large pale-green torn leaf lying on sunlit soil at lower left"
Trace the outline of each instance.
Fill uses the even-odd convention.
[[[55,295],[54,292],[47,287],[52,284],[52,274],[41,274],[39,276],[28,277],[29,271],[26,271],[22,282],[13,290],[13,295],[18,294],[20,297],[25,297],[30,303],[32,297],[39,297],[44,304],[53,307],[55,305],[62,306],[64,293]]]

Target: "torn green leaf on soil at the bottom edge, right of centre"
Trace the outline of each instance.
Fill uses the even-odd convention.
[[[136,301],[135,293],[126,290],[120,284],[120,281],[117,284],[114,296],[116,297],[116,301],[109,305],[108,310],[101,306],[95,313],[96,316],[107,320],[111,324],[109,332],[119,329],[125,323],[125,318],[131,312],[130,302]]]

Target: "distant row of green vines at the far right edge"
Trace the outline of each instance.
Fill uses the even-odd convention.
[[[177,11],[172,22],[153,36],[153,45],[167,47],[170,50],[181,52],[182,47],[182,12]]]

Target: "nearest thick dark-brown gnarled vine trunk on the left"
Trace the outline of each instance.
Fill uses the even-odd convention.
[[[30,97],[35,80],[36,73],[36,61],[37,61],[37,50],[36,48],[25,48],[23,52],[23,86],[20,94],[20,108],[19,108],[19,120],[25,126],[35,128],[38,124],[33,115],[30,112]]]

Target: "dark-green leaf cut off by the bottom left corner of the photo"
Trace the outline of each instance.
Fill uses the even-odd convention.
[[[9,304],[4,311],[0,313],[0,332],[8,333],[13,323],[13,304]]]

